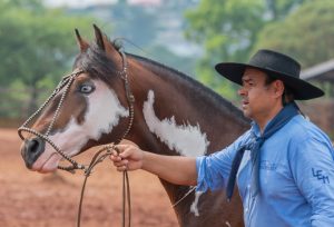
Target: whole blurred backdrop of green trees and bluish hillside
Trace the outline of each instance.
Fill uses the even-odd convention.
[[[169,0],[156,11],[119,0],[104,9],[104,19],[92,8],[48,8],[42,0],[0,0],[0,118],[31,114],[71,70],[78,52],[75,28],[87,37],[92,23],[100,24],[107,33],[131,40],[150,58],[236,100],[234,85],[215,72],[217,62],[247,62],[261,48],[291,55],[304,68],[332,59],[333,12],[332,0]],[[179,56],[170,50],[170,43],[159,42],[164,23],[175,17],[183,21],[185,37],[203,55]]]

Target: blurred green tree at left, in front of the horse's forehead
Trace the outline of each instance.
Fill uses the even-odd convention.
[[[92,19],[47,9],[40,0],[3,0],[0,9],[0,83],[27,89],[29,115],[42,96],[40,89],[50,89],[70,71],[78,52],[73,29],[87,30]]]

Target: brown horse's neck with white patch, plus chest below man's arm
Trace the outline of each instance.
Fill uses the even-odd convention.
[[[196,82],[186,78],[171,78],[169,73],[147,70],[139,73],[140,78],[131,78],[136,96],[136,119],[130,139],[143,149],[163,155],[199,156],[224,148],[247,129],[247,122],[235,107]],[[207,142],[202,142],[200,150],[196,150],[200,146],[194,139]],[[191,147],[194,144],[195,147]],[[161,181],[171,204],[180,200],[189,190],[188,187]],[[205,198],[212,203],[209,206],[222,209],[222,195],[218,199],[207,195]],[[181,226],[202,226],[195,215],[189,213],[194,200],[191,194],[175,208]],[[200,206],[208,209],[202,214],[206,218],[212,218],[213,214],[219,216],[219,211],[210,211],[207,205]],[[222,223],[212,226],[222,226]]]

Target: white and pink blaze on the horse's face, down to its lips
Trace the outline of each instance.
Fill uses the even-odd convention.
[[[75,118],[71,118],[63,130],[50,136],[50,139],[69,156],[77,155],[88,140],[99,140],[102,134],[109,134],[118,125],[121,117],[129,116],[128,109],[120,105],[114,90],[101,80],[92,80],[92,82],[96,89],[87,96],[84,122],[78,124]],[[45,152],[33,164],[32,169],[56,170],[60,159],[61,157],[47,144]]]

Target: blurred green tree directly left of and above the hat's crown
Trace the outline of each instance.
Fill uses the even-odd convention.
[[[197,65],[198,79],[235,99],[235,85],[214,76],[214,66],[220,61],[247,61],[264,26],[284,19],[305,1],[310,0],[202,0],[186,12],[186,37],[205,48]]]

